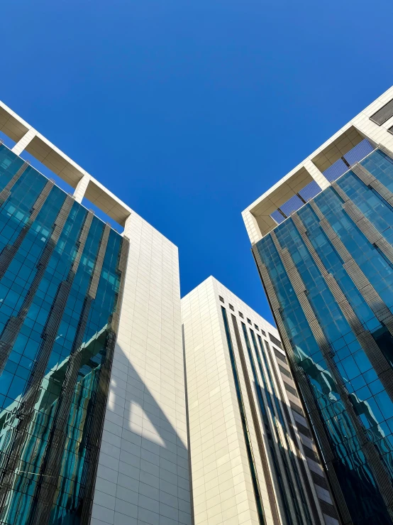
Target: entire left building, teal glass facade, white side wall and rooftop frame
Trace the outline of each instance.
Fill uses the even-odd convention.
[[[0,523],[190,525],[177,247],[1,103],[0,131]]]

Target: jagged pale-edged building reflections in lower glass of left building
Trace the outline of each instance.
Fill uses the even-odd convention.
[[[101,369],[102,350],[106,338],[107,326],[98,334],[93,336],[85,345],[82,345],[81,360],[78,381],[72,396],[72,410],[70,410],[67,421],[67,433],[65,434],[64,450],[60,469],[61,487],[57,498],[57,506],[52,511],[52,521],[62,523],[67,514],[72,514],[75,501],[79,497],[79,487],[83,472],[83,443],[86,440],[86,416],[89,403],[91,403],[91,392],[96,389]],[[43,388],[40,390],[35,403],[35,413],[29,428],[29,434],[34,440],[25,440],[23,450],[16,472],[15,485],[9,501],[7,502],[4,521],[6,523],[23,523],[29,512],[31,497],[34,496],[32,489],[36,487],[37,477],[40,477],[43,469],[43,461],[46,448],[50,443],[50,430],[56,414],[56,406],[60,391],[58,385],[63,384],[70,357],[64,359],[43,378]],[[11,406],[6,407],[0,413],[0,448],[3,454],[9,452],[7,444],[13,442],[13,434],[16,432],[15,417],[16,408],[21,402],[21,396]],[[12,414],[12,423],[9,421]],[[70,451],[76,453],[77,460],[70,455]],[[80,454],[79,454],[80,452]],[[72,460],[70,460],[72,458]],[[28,469],[24,471],[23,469]]]

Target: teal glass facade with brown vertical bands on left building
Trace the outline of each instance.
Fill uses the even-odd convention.
[[[87,524],[128,242],[0,146],[0,523]]]

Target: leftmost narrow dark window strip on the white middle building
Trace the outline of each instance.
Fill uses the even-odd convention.
[[[262,497],[260,494],[260,487],[258,482],[257,470],[255,467],[255,459],[253,454],[253,445],[251,444],[250,432],[248,430],[247,417],[245,416],[245,408],[243,403],[243,394],[240,388],[238,368],[236,366],[235,352],[233,351],[231,332],[229,330],[228,317],[226,315],[226,309],[221,306],[221,313],[223,315],[223,324],[226,333],[226,342],[228,344],[229,357],[231,359],[231,367],[233,373],[233,381],[235,382],[236,397],[238,399],[238,406],[240,411],[240,419],[243,427],[243,435],[245,440],[245,448],[247,450],[248,464],[250,466],[251,479],[253,482],[253,489],[255,495],[255,504],[258,512],[258,519],[260,524],[265,524],[265,513],[262,507]]]

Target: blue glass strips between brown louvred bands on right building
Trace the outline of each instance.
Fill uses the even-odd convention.
[[[393,161],[380,151],[371,153],[362,162],[375,177],[393,190]],[[345,170],[348,171],[348,168]],[[352,171],[338,178],[338,185],[363,212],[375,228],[381,232],[384,239],[392,244],[393,211],[380,195],[367,188]],[[343,210],[342,200],[333,188],[319,193],[314,199],[323,215],[333,227],[360,269],[369,279],[388,308],[393,308],[393,265],[370,244],[364,234],[356,227],[353,220]],[[392,220],[389,217],[392,215]],[[299,210],[299,217],[307,230],[309,240],[321,258],[326,270],[336,279],[345,297],[358,316],[364,330],[369,330],[387,362],[393,363],[393,340],[389,330],[377,319],[370,305],[365,301],[362,290],[358,289],[343,267],[343,261],[333,244],[323,232],[319,219],[311,206],[306,204]],[[306,297],[312,311],[323,330],[331,347],[331,358],[341,376],[348,399],[358,415],[365,433],[377,446],[380,458],[393,480],[393,406],[384,387],[370,364],[355,333],[350,328],[343,315],[341,307],[336,302],[327,283],[309,250],[306,248],[297,228],[291,218],[275,228],[275,234],[281,247],[287,248],[299,272],[301,281],[306,288]],[[294,357],[304,370],[311,384],[314,399],[319,407],[323,426],[328,434],[333,451],[341,459],[345,469],[352,475],[350,486],[355,492],[370,490],[373,503],[367,500],[360,511],[355,492],[343,487],[347,495],[350,512],[358,516],[358,520],[379,519],[381,523],[389,523],[387,517],[380,512],[384,507],[379,492],[375,492],[377,484],[372,477],[360,442],[350,417],[346,413],[345,404],[338,394],[338,388],[333,375],[328,369],[325,359],[319,350],[296,294],[292,289],[282,261],[272,242],[270,234],[257,244],[262,263],[270,275],[272,285],[277,295],[280,314],[287,330],[287,335],[294,351]],[[336,465],[338,479],[342,478],[341,467]],[[348,472],[348,470],[345,470]],[[348,478],[349,479],[349,478]],[[367,485],[365,485],[367,483]],[[380,499],[380,506],[376,502]],[[375,518],[378,516],[378,518]]]

